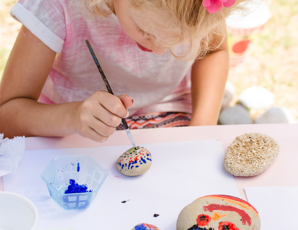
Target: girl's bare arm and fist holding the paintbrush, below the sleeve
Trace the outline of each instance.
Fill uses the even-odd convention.
[[[128,116],[132,98],[97,91],[81,102],[38,103],[56,53],[37,37],[26,36],[26,27],[21,30],[0,84],[0,132],[6,137],[79,133],[97,142],[107,140]]]

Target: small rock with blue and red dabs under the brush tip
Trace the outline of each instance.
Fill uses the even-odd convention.
[[[147,172],[152,163],[150,152],[144,147],[128,149],[117,160],[118,170],[126,176],[137,176]]]

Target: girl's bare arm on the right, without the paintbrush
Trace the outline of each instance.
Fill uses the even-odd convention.
[[[220,37],[213,39],[215,43],[220,40]],[[228,67],[229,58],[225,36],[219,49],[210,52],[204,60],[198,60],[192,66],[193,114],[190,126],[217,124]]]

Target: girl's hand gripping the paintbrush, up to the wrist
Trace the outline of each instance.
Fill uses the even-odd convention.
[[[118,97],[99,90],[83,101],[74,112],[74,127],[81,136],[104,142],[128,117],[127,109],[134,100],[128,95]]]

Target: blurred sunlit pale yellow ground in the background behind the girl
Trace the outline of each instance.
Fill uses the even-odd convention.
[[[21,24],[9,10],[15,0],[0,1],[0,79]],[[263,86],[275,97],[275,106],[285,106],[298,119],[298,1],[269,0],[272,17],[265,28],[247,38],[251,40],[245,63],[231,67],[228,80],[236,95],[250,86]],[[229,43],[239,40],[230,35]],[[237,102],[237,96],[233,103]],[[257,117],[260,111],[251,110]]]

